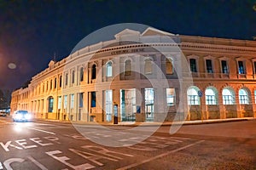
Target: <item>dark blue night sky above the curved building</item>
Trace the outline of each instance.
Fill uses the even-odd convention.
[[[253,0],[0,0],[0,89],[20,88],[104,26],[139,23],[180,35],[253,40]]]

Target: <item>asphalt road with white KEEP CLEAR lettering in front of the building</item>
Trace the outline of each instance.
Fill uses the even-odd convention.
[[[1,116],[0,169],[256,169],[256,120],[153,130]]]

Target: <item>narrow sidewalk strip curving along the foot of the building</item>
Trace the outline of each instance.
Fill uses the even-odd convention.
[[[220,123],[220,122],[239,122],[239,121],[249,121],[256,120],[254,117],[243,117],[243,118],[228,118],[228,119],[208,119],[208,120],[195,120],[195,121],[184,121],[184,122],[119,122],[118,124],[113,124],[113,122],[71,122],[71,121],[61,121],[61,120],[51,120],[51,119],[35,119],[40,122],[67,122],[72,124],[80,125],[102,125],[102,126],[127,126],[127,127],[137,127],[137,126],[171,126],[171,125],[198,125],[198,124],[208,124],[208,123]]]

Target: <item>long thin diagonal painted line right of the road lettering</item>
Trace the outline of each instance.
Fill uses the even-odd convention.
[[[197,142],[195,142],[195,143],[193,143],[193,144],[185,145],[185,146],[183,146],[183,147],[181,147],[181,148],[177,148],[176,150],[170,150],[170,151],[168,151],[168,152],[166,152],[166,153],[160,154],[159,156],[154,156],[154,157],[151,157],[151,158],[149,158],[149,159],[147,159],[147,160],[144,160],[144,161],[141,161],[141,162],[133,163],[133,164],[128,165],[128,166],[125,166],[125,167],[120,167],[120,168],[118,168],[118,169],[116,169],[116,170],[125,170],[125,169],[129,169],[129,168],[131,168],[131,167],[137,167],[137,166],[139,166],[139,165],[142,165],[142,164],[144,164],[144,163],[147,163],[148,161],[153,161],[153,160],[158,159],[158,158],[161,158],[161,157],[163,157],[163,156],[168,156],[169,154],[175,153],[175,152],[177,152],[177,151],[179,151],[179,150],[184,150],[184,149],[189,148],[189,147],[191,147],[191,146],[193,146],[193,145],[195,145],[195,144],[200,144],[200,143],[202,143],[202,142],[204,142],[204,141],[205,141],[205,140],[199,140],[199,141],[197,141]]]

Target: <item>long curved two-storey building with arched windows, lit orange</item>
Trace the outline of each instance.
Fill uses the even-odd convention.
[[[166,42],[166,36],[174,42]],[[173,35],[153,28],[126,29],[114,37],[50,61],[27,88],[13,92],[11,110],[81,122],[113,122],[113,105],[119,122],[256,116],[255,41]],[[193,77],[193,84],[182,88],[176,70],[181,55],[189,67],[181,71]],[[154,86],[150,79],[168,86]]]

